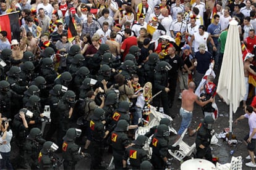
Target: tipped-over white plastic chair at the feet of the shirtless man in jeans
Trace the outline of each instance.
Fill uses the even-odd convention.
[[[187,129],[185,129],[185,131],[181,134],[181,137],[179,138],[179,140],[177,140],[177,142],[173,144],[173,147],[176,147],[177,145],[179,145],[179,150],[175,150],[174,152],[172,152],[171,150],[168,150],[169,154],[179,161],[183,160],[186,156],[190,156],[195,150],[195,143],[192,146],[189,146],[186,144],[186,142],[182,140],[186,132],[187,132]]]

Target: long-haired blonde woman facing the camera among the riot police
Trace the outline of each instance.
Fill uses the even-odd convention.
[[[133,124],[138,124],[139,118],[142,118],[142,110],[151,101],[152,98],[152,84],[147,82],[142,89],[137,91],[137,102],[135,104],[135,113],[132,120]]]

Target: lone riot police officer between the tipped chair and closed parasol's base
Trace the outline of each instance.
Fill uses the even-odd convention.
[[[214,132],[213,123],[214,119],[212,116],[205,116],[202,126],[197,131],[197,138],[195,139],[197,147],[195,156],[197,158],[205,157],[208,161],[212,161],[210,143]]]

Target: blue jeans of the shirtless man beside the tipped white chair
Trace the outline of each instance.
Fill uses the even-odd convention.
[[[181,115],[182,121],[181,127],[179,127],[179,131],[177,132],[177,134],[181,135],[185,131],[185,129],[189,127],[193,113],[192,111],[184,110],[184,108],[181,107],[181,109],[179,110],[179,115]]]

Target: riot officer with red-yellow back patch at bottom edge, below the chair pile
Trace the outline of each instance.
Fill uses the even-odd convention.
[[[148,160],[147,152],[143,150],[143,146],[145,145],[145,142],[147,141],[147,137],[145,136],[138,136],[137,139],[133,142],[135,145],[132,145],[128,148],[126,148],[126,152],[124,153],[123,157],[123,168],[127,168],[127,160],[130,159],[130,166],[132,166],[132,169],[139,169],[140,164],[143,161]]]

